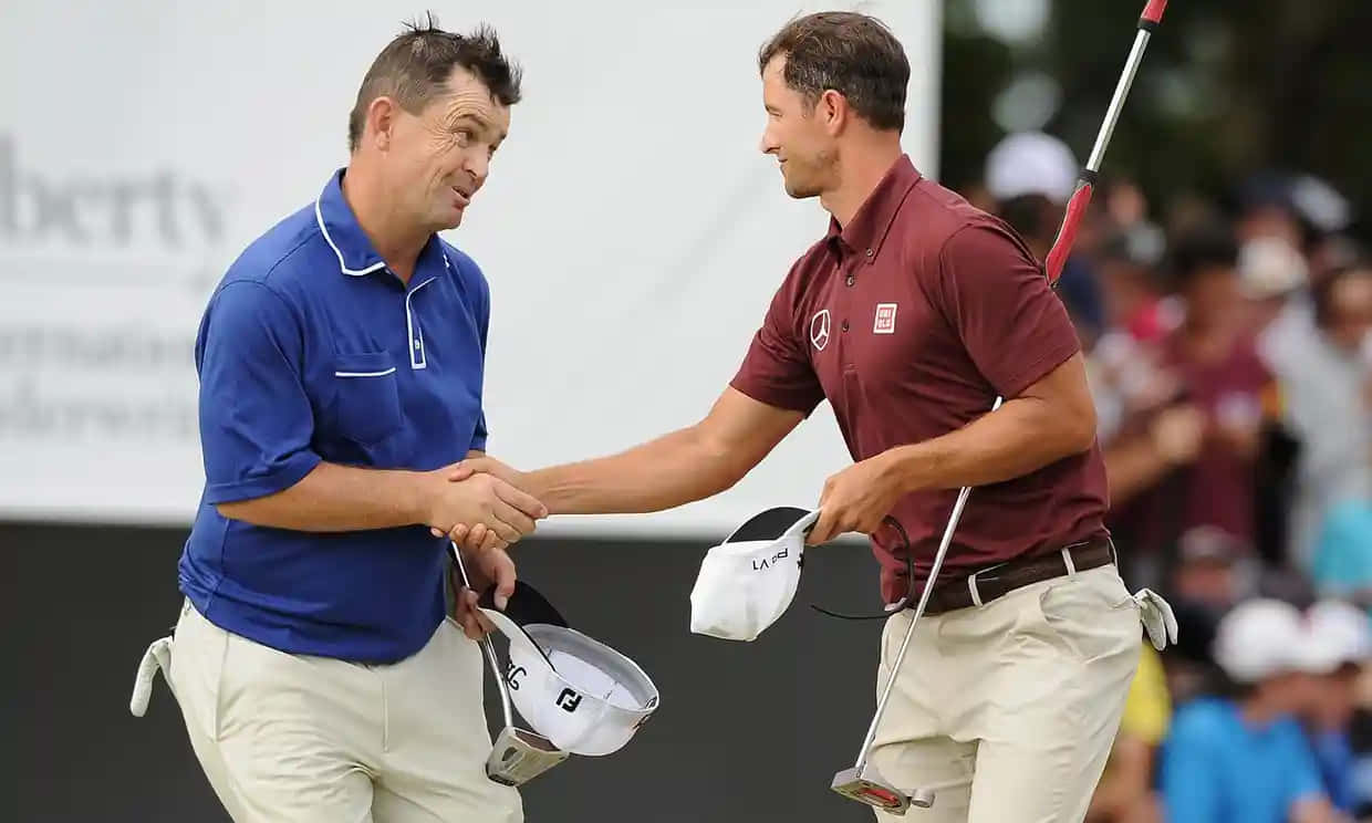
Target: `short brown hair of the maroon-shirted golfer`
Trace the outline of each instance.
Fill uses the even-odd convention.
[[[851,11],[796,18],[757,52],[757,70],[763,71],[777,55],[786,56],[786,86],[807,103],[814,104],[833,89],[874,128],[904,128],[910,60],[877,18]]]

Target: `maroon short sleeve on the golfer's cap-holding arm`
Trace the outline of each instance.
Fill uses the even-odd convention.
[[[1081,348],[1043,269],[1000,226],[969,225],[944,243],[937,299],[977,370],[1003,398],[1018,396]]]

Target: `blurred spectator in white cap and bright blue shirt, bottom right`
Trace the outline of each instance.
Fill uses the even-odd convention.
[[[1177,712],[1161,760],[1169,823],[1336,820],[1294,719],[1310,700],[1301,620],[1288,604],[1251,599],[1220,623],[1214,656],[1233,695]]]

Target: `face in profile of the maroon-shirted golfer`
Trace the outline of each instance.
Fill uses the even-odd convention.
[[[759,148],[775,155],[788,195],[815,198],[838,184],[833,107],[834,97],[841,97],[826,92],[815,106],[807,106],[804,96],[786,85],[785,67],[786,56],[778,55],[763,69],[767,128]]]

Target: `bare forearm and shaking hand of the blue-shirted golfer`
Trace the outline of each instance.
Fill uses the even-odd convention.
[[[276,494],[220,503],[225,517],[309,532],[343,532],[425,524],[451,531],[486,523],[505,542],[534,531],[546,516],[538,501],[497,477],[447,481],[449,469],[403,472],[322,462]]]

